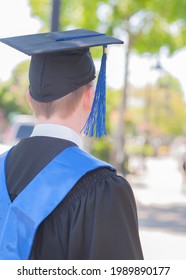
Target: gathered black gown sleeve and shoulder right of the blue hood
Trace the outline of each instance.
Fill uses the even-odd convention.
[[[86,175],[44,221],[31,259],[143,259],[128,182],[100,169]]]

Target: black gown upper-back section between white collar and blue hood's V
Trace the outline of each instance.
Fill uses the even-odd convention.
[[[15,199],[18,193],[65,148],[75,144],[59,138],[31,137],[20,141],[7,159],[7,186],[11,187],[10,198]]]

